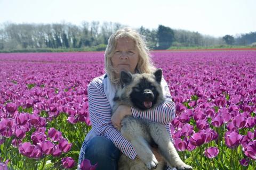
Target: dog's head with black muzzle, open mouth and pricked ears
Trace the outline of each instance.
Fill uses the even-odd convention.
[[[122,71],[121,89],[118,90],[114,101],[121,101],[142,111],[153,108],[163,101],[161,80],[161,69],[157,69],[153,74],[131,74]]]

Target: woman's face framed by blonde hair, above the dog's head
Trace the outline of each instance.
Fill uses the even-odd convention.
[[[139,61],[139,52],[131,38],[119,38],[117,40],[114,55],[111,57],[112,66],[119,77],[121,71],[135,72]]]

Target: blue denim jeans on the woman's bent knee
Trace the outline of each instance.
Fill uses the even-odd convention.
[[[120,150],[105,137],[93,137],[85,148],[84,159],[89,159],[91,165],[98,163],[97,170],[117,170]]]

